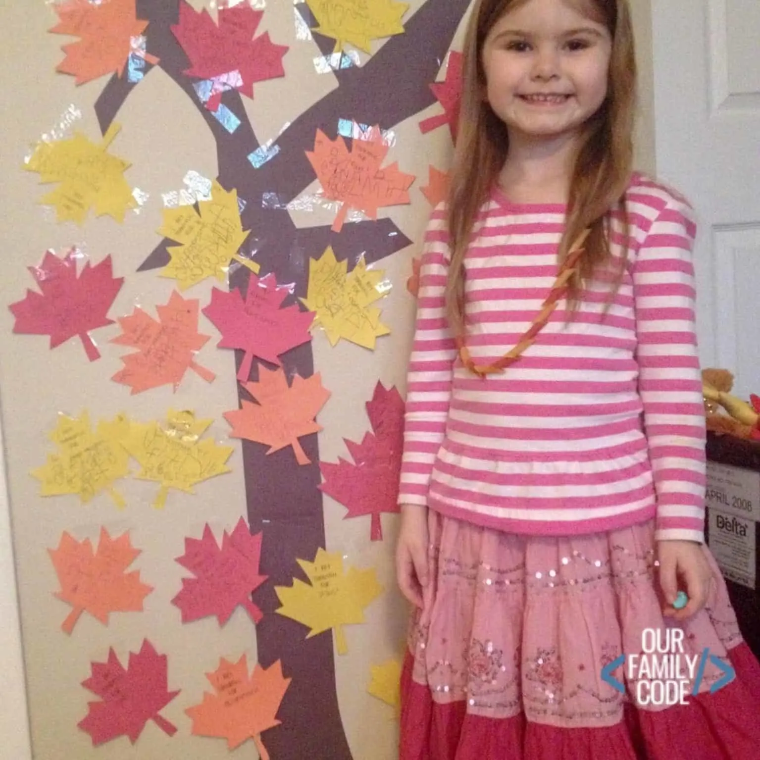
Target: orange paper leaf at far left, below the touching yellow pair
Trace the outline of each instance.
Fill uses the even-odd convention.
[[[97,552],[89,538],[80,543],[64,533],[58,549],[48,552],[61,584],[55,596],[74,607],[61,626],[66,633],[74,630],[85,610],[104,625],[109,613],[140,612],[153,591],[140,580],[139,571],[125,572],[140,553],[131,546],[128,533],[112,539],[101,528]]]

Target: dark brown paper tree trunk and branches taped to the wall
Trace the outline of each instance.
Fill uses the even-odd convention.
[[[315,180],[306,150],[314,146],[318,129],[334,139],[340,118],[390,129],[436,102],[429,85],[438,77],[469,2],[426,0],[416,12],[404,17],[405,33],[392,36],[365,65],[334,71],[337,87],[293,119],[277,139],[277,155],[258,169],[252,168],[248,157],[262,146],[247,119],[239,90],[230,87],[220,96],[221,105],[242,119],[230,133],[199,100],[195,80],[184,73],[190,62],[172,32],[172,25],[179,20],[180,6],[185,6],[184,0],[138,2],[139,17],[149,22],[145,31],[147,52],[160,60],[160,68],[184,90],[198,109],[198,118],[205,120],[214,135],[220,184],[226,190],[236,188],[238,197],[247,201],[242,226],[255,230],[256,261],[261,264],[262,274],[274,273],[278,282],[295,283],[294,295],[306,297],[309,258],[318,257],[328,246],[338,260],[347,259],[351,268],[361,253],[369,265],[410,245],[410,239],[388,218],[347,223],[340,233],[332,232],[329,224],[296,229],[281,206],[297,198]],[[306,4],[296,8],[306,16],[310,28],[318,26],[309,17]],[[315,33],[314,40],[322,55],[334,51],[334,39]],[[287,70],[287,58],[285,62]],[[146,73],[149,70],[150,65],[146,65]],[[278,80],[278,86],[286,87],[287,78]],[[106,85],[96,106],[103,132],[124,105],[132,87],[135,84],[118,76]],[[257,90],[256,97],[262,100],[266,97],[263,87]],[[262,206],[265,192],[277,193],[278,209]],[[167,245],[174,242],[164,240],[141,269],[166,266]],[[231,274],[230,288],[240,288],[245,293],[249,274],[246,268],[237,269]],[[239,369],[243,355],[242,350],[236,351],[234,372]],[[282,363],[288,375],[295,372],[303,378],[314,375],[311,342],[288,352]],[[251,379],[257,377],[258,367],[254,366]],[[320,546],[325,546],[322,494],[317,487],[320,482],[317,436],[307,436],[302,445],[310,461],[305,466],[296,462],[291,451],[267,457],[264,445],[242,443],[249,525],[253,533],[264,532],[261,572],[271,578],[268,588],[257,592],[257,602],[264,611],[264,619],[256,630],[258,657],[264,663],[282,659],[293,674],[293,683],[279,713],[289,730],[273,736],[269,749],[273,757],[295,757],[299,755],[298,747],[309,746],[311,760],[351,760],[337,705],[331,638],[326,634],[315,638],[306,653],[302,626],[282,616],[267,614],[278,605],[274,586],[292,581],[289,574],[293,561],[297,557],[313,557]],[[273,477],[273,472],[277,477]],[[297,529],[290,514],[293,504],[299,505]],[[315,658],[318,667],[313,665]],[[318,700],[314,699],[315,694],[320,695]],[[303,717],[306,715],[308,720]]]

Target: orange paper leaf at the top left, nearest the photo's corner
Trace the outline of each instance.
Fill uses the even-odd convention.
[[[131,39],[141,35],[147,21],[138,19],[135,0],[65,0],[55,5],[60,23],[51,32],[81,37],[63,46],[65,59],[56,67],[62,74],[74,74],[77,84],[92,81],[104,74],[122,75],[131,52]],[[154,63],[152,55],[145,59]]]

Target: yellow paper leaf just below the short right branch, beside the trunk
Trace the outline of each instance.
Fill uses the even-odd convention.
[[[375,349],[375,339],[390,334],[380,321],[380,309],[371,306],[388,293],[382,284],[385,272],[366,268],[364,258],[347,274],[347,261],[337,261],[329,248],[319,259],[309,260],[309,290],[301,301],[315,312],[312,325],[321,325],[334,346],[340,338]]]

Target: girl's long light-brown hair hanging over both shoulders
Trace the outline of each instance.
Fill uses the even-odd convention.
[[[478,211],[489,197],[504,166],[508,136],[504,123],[483,98],[486,75],[483,46],[489,31],[508,11],[527,0],[477,0],[464,43],[463,94],[454,166],[448,192],[448,318],[454,334],[464,334],[464,256]],[[587,0],[591,12],[613,39],[606,100],[586,124],[584,141],[573,169],[565,232],[559,244],[563,261],[573,242],[590,230],[578,271],[568,283],[568,304],[574,308],[583,283],[597,266],[610,260],[608,214],[619,208],[628,223],[622,198],[633,162],[636,62],[628,0]],[[622,268],[620,270],[622,276]]]

